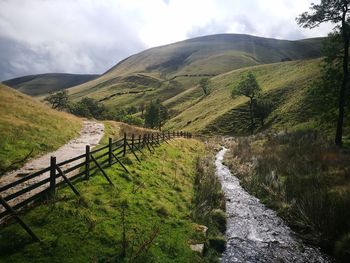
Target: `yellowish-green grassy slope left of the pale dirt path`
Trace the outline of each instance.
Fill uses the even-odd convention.
[[[31,150],[34,157],[60,147],[81,125],[81,119],[0,84],[0,171]]]

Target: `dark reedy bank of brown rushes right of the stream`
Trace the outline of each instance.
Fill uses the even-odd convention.
[[[226,162],[304,239],[349,262],[349,157],[315,132],[293,132],[238,139]]]

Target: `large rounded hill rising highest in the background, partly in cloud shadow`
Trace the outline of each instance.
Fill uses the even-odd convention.
[[[203,77],[244,67],[320,56],[320,38],[288,41],[239,34],[193,38],[135,54],[99,78],[70,88],[72,99],[88,96],[110,107],[171,99]]]

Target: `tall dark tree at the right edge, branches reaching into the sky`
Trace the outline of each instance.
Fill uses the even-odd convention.
[[[318,5],[311,4],[311,11],[302,13],[296,20],[305,28],[315,28],[322,23],[335,24],[335,30],[339,31],[343,42],[342,56],[342,82],[338,94],[338,120],[335,135],[335,144],[342,145],[345,93],[349,82],[349,4],[350,0],[321,0]]]

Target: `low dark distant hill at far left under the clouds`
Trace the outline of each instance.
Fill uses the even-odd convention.
[[[27,95],[42,96],[97,78],[99,75],[47,73],[6,80],[3,83]]]

